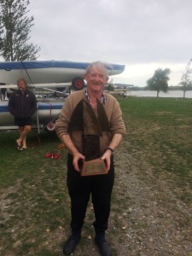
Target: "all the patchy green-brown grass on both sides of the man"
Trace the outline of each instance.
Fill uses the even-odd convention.
[[[127,97],[119,103],[126,125],[125,151],[141,165],[138,176],[148,180],[145,163],[156,179],[163,176],[170,181],[177,198],[190,207],[192,100]],[[0,254],[62,255],[62,243],[70,232],[67,151],[58,148],[55,134],[42,133],[38,139],[32,131],[28,149],[20,152],[15,149],[17,136],[17,131],[0,131]],[[61,154],[61,159],[44,158],[51,151]],[[119,157],[118,150],[115,156]],[[117,193],[114,187],[114,204]],[[90,206],[88,224],[84,224],[86,237],[93,236],[92,217]],[[86,242],[81,241],[75,255],[90,255],[83,251]]]

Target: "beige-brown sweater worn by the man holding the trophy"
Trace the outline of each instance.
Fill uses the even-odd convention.
[[[110,132],[102,131],[102,137],[100,137],[100,152],[103,152],[108,148],[108,145],[115,133],[119,133],[122,136],[125,135],[125,124],[122,119],[122,112],[119,107],[119,102],[105,93],[106,103],[103,105],[105,112],[108,116],[108,122],[110,126]],[[70,96],[67,96],[66,101],[61,109],[59,119],[55,122],[55,130],[58,137],[68,134],[68,124],[70,122],[72,113],[77,104],[82,100],[86,100],[85,91],[79,90],[73,92]],[[77,119],[79,117],[77,116]],[[79,152],[82,153],[82,131],[73,131],[69,134],[74,145],[78,148]]]

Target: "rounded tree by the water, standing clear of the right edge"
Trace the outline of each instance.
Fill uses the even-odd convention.
[[[148,89],[149,90],[156,90],[157,91],[157,97],[159,97],[160,90],[166,92],[168,90],[168,75],[170,74],[170,69],[165,68],[162,70],[161,68],[158,68],[154,71],[154,75],[152,78],[148,79]]]

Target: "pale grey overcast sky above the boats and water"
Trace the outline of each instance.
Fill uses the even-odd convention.
[[[157,68],[180,82],[192,58],[192,0],[30,0],[38,60],[125,64],[114,83],[145,86]]]

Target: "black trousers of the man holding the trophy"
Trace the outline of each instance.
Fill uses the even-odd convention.
[[[67,187],[71,197],[72,232],[81,232],[90,195],[96,218],[93,223],[96,233],[104,233],[108,229],[113,181],[113,156],[108,174],[81,177],[73,167],[73,156],[68,154]]]

